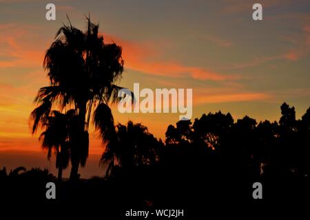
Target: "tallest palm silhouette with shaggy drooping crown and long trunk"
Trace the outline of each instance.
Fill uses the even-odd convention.
[[[77,115],[72,140],[70,179],[77,179],[79,165],[85,165],[88,155],[90,118],[106,128],[113,122],[109,104],[118,102],[116,84],[123,73],[122,48],[115,43],[106,44],[99,36],[99,25],[87,18],[87,31],[63,25],[45,54],[43,66],[48,71],[50,86],[39,89],[32,112],[32,133],[45,122],[53,104],[61,111],[74,108]],[[94,109],[96,108],[96,109]],[[108,113],[108,114],[107,114]],[[99,120],[99,121],[96,121]],[[103,139],[109,138],[103,135]]]

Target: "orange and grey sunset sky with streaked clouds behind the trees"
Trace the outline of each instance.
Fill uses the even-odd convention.
[[[56,21],[45,19],[47,3],[56,5]],[[254,3],[262,21],[252,19]],[[0,0],[0,168],[49,168],[28,124],[34,96],[48,85],[43,56],[66,14],[85,30],[88,13],[107,43],[123,47],[120,85],[192,88],[192,120],[221,110],[273,121],[282,102],[300,118],[310,105],[309,0]],[[141,122],[163,140],[179,115],[113,112],[116,122]],[[103,152],[98,133],[90,136],[85,177],[100,174]]]

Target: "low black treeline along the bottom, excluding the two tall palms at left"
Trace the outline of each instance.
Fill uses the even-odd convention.
[[[169,125],[165,144],[142,124],[116,126],[118,144],[107,147],[104,177],[57,183],[56,203],[101,201],[112,209],[188,208],[238,199],[257,203],[252,184],[263,186],[263,200],[302,201],[309,196],[310,108],[296,120],[283,103],[278,122],[256,122],[229,113],[203,114],[194,122]],[[1,195],[45,199],[48,170],[0,171]],[[4,198],[4,197],[2,197]]]

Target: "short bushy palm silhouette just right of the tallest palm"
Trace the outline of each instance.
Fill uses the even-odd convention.
[[[112,131],[113,139],[101,157],[102,163],[109,164],[107,175],[114,166],[134,168],[158,161],[163,143],[149,133],[146,126],[129,121],[127,125],[118,124],[116,129],[109,131]]]

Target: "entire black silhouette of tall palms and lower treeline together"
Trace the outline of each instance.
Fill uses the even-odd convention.
[[[43,66],[49,85],[39,89],[30,114],[32,133],[41,131],[41,147],[56,155],[58,177],[48,170],[0,171],[3,201],[68,204],[100,201],[105,210],[178,208],[208,202],[260,203],[252,197],[262,183],[262,201],[302,201],[309,196],[310,110],[296,120],[283,103],[278,122],[256,122],[229,113],[204,114],[167,127],[165,143],[142,124],[114,124],[110,104],[121,100],[122,47],[105,43],[99,25],[87,17],[85,32],[69,24],[56,33]],[[133,96],[133,94],[126,94]],[[106,145],[103,177],[80,179],[94,124]],[[70,180],[63,169],[71,164]],[[56,199],[45,198],[45,184],[56,183]],[[65,207],[65,206],[64,206]],[[114,218],[117,219],[117,218]]]

